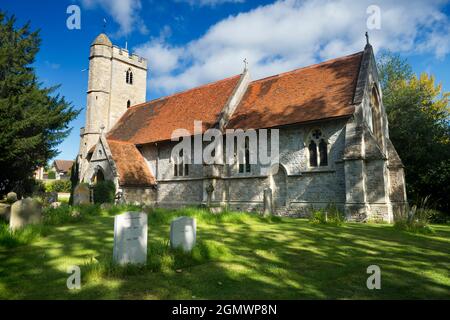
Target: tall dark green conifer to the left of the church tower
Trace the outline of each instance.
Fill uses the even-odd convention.
[[[0,11],[0,196],[29,191],[33,171],[55,157],[79,113],[58,87],[45,88],[33,63],[41,39],[30,24],[16,28],[15,18]]]

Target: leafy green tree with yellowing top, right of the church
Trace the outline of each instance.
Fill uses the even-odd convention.
[[[390,138],[405,165],[408,197],[420,203],[430,196],[450,211],[450,93],[426,73],[414,75],[398,55],[379,59],[383,104]]]

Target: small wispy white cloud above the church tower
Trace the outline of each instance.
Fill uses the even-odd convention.
[[[148,30],[139,16],[140,0],[82,0],[86,9],[101,7],[120,26],[117,36],[128,35],[134,30],[147,34]]]

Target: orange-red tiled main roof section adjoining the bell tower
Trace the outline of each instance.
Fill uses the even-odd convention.
[[[120,118],[108,139],[134,144],[170,140],[175,129],[194,132],[194,120],[211,128],[236,88],[241,75],[134,106]]]

